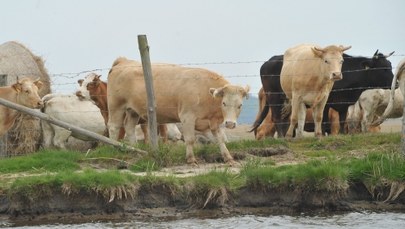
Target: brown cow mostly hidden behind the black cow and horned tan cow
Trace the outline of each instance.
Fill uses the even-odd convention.
[[[260,88],[258,96],[259,96],[259,112],[256,115],[256,120],[258,120],[258,117],[260,116],[264,106],[266,105],[266,96],[265,96],[263,88]],[[330,134],[337,135],[339,133],[339,128],[340,128],[339,113],[337,111],[335,111],[333,108],[330,108],[328,114],[329,114],[329,120],[330,120],[330,125],[331,125]],[[313,124],[311,108],[307,109],[307,114],[305,116],[305,123]],[[271,110],[269,110],[269,112],[267,113],[267,116],[264,118],[262,124],[257,128],[257,131],[255,132],[255,137],[257,140],[261,140],[266,137],[274,137],[275,133],[276,133],[276,127],[271,119]]]

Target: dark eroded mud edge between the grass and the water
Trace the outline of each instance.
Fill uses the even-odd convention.
[[[380,190],[376,200],[366,187],[352,184],[345,193],[255,190],[243,188],[224,203],[205,207],[195,199],[173,195],[165,187],[140,190],[137,197],[109,202],[102,196],[80,192],[66,195],[59,190],[36,198],[0,196],[0,219],[13,226],[95,221],[170,220],[190,217],[218,218],[234,215],[337,214],[345,212],[404,212],[405,193],[385,202],[389,191]]]

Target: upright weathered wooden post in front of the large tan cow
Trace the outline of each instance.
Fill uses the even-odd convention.
[[[156,103],[153,89],[152,67],[149,57],[149,46],[146,35],[138,35],[139,52],[141,53],[143,76],[145,78],[146,93],[148,96],[148,127],[149,140],[152,150],[158,149]]]

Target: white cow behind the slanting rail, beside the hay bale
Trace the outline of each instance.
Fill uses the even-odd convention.
[[[41,111],[58,119],[86,130],[103,134],[106,126],[100,110],[91,101],[80,100],[76,95],[48,94],[42,98],[44,108]],[[83,141],[91,139],[85,136],[74,135],[71,131],[62,127],[42,121],[43,146],[55,146],[66,148],[66,142],[70,136]]]

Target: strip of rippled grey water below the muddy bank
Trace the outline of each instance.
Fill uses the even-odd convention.
[[[0,228],[12,225],[1,221]],[[13,228],[405,228],[405,213],[354,212],[330,216],[234,216],[217,219],[189,218],[172,221],[93,222],[84,224],[52,224]]]

